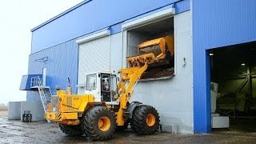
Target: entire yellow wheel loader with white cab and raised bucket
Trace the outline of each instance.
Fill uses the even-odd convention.
[[[126,58],[129,68],[110,73],[86,74],[85,94],[59,90],[52,96],[45,118],[58,122],[70,136],[86,134],[92,140],[107,140],[128,123],[138,134],[154,134],[159,115],[153,106],[129,102],[134,86],[148,66],[167,62],[174,54],[174,38],[167,36],[138,45],[138,56]],[[169,53],[169,54],[167,54]]]

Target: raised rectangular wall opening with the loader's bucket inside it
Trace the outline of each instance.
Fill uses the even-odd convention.
[[[174,76],[174,17],[127,31],[127,56],[143,54],[154,54],[159,60],[149,65],[141,80],[166,79]]]

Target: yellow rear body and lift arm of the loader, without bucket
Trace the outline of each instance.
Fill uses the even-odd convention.
[[[147,63],[145,63],[142,67],[135,66],[119,70],[121,81],[118,82],[118,94],[116,94],[116,97],[118,97],[120,106],[119,110],[115,112],[118,126],[124,126],[125,124],[126,120],[124,119],[124,115],[126,111],[126,103],[129,102],[130,97],[133,94],[134,85],[141,77],[142,73],[147,69],[147,66]],[[126,86],[126,82],[129,82],[128,86]],[[53,107],[54,104],[51,103],[51,105],[48,106],[48,112],[46,112],[45,118],[50,121],[67,125],[78,125],[82,114],[91,106],[102,105],[110,107],[107,106],[105,102],[94,102],[94,95],[91,94],[71,95],[67,94],[65,90],[58,90],[56,97],[58,98],[58,106]]]

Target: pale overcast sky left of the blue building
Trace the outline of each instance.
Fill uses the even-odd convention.
[[[27,74],[30,30],[75,6],[82,0],[1,0],[0,1],[0,103],[25,101],[20,91]]]

